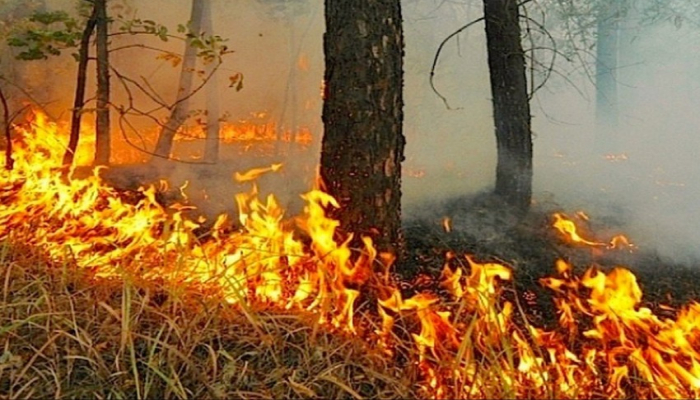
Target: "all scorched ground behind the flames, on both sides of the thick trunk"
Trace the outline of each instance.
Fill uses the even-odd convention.
[[[266,165],[256,161],[255,165]],[[269,164],[268,164],[269,165]],[[229,166],[228,171],[242,170],[240,164]],[[212,170],[206,166],[181,166],[170,171],[156,171],[145,165],[119,166],[106,170],[104,179],[136,201],[136,189],[162,177],[171,177],[174,184],[158,193],[158,200],[165,206],[177,202],[196,204],[199,210],[191,211],[212,217],[221,212],[234,211],[233,195],[249,191],[249,184],[236,184],[232,173],[222,173],[226,166]],[[81,171],[78,171],[80,175]],[[282,187],[287,193],[303,193],[310,187],[308,180],[294,179],[299,171],[288,170],[282,174],[264,177],[262,186]],[[175,179],[172,179],[175,178]],[[178,185],[190,182],[187,193],[194,193],[189,200],[182,198]],[[267,180],[267,181],[265,181]],[[211,188],[215,190],[209,191]],[[205,195],[204,190],[208,190]],[[199,195],[198,195],[199,194]],[[281,199],[288,209],[288,216],[301,210],[303,202],[298,196]],[[691,301],[700,301],[700,260],[686,263],[663,259],[653,249],[640,247],[633,250],[608,250],[584,245],[572,245],[552,227],[554,212],[572,215],[576,210],[564,210],[553,202],[535,204],[531,212],[518,221],[508,207],[490,194],[477,194],[426,204],[425,210],[408,210],[404,214],[406,259],[397,272],[409,292],[436,290],[438,277],[445,263],[445,255],[451,251],[457,255],[470,254],[477,262],[498,262],[512,267],[515,292],[521,304],[528,306],[528,314],[542,324],[556,321],[552,307],[552,291],[540,284],[540,279],[555,276],[555,262],[564,259],[573,265],[574,273],[582,274],[591,266],[609,271],[623,266],[637,277],[644,297],[643,305],[658,315],[669,315],[659,305],[674,308]],[[591,222],[580,225],[582,236],[607,241],[611,232],[624,233],[624,213],[620,215],[593,215]],[[451,231],[445,232],[442,220],[450,217]],[[214,219],[209,218],[212,222]],[[206,230],[206,224],[203,230]],[[587,228],[587,229],[586,229]],[[630,238],[634,243],[634,237]],[[459,260],[459,259],[457,259]],[[455,260],[455,261],[457,261]],[[463,259],[462,259],[463,260]],[[407,293],[408,294],[408,293]]]

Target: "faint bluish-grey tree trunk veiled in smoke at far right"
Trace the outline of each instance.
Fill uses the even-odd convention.
[[[596,148],[601,153],[617,152],[618,94],[617,67],[619,19],[618,0],[601,4],[596,40]]]

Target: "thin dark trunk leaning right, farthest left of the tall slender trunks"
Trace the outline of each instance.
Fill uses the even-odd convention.
[[[73,101],[73,111],[71,113],[70,137],[68,148],[63,155],[63,166],[69,167],[73,164],[75,153],[80,140],[80,120],[83,117],[83,106],[85,105],[85,84],[87,82],[87,64],[90,56],[90,37],[95,30],[97,23],[97,8],[93,8],[92,15],[85,25],[83,36],[80,38],[80,48],[78,50],[78,77],[75,86],[75,99]]]

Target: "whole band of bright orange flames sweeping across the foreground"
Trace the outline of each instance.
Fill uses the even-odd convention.
[[[15,168],[0,175],[0,238],[37,246],[56,263],[98,277],[136,273],[196,283],[223,293],[231,307],[311,312],[327,329],[376,342],[397,360],[401,326],[412,350],[397,362],[420,371],[425,397],[700,396],[700,304],[675,319],[658,317],[640,306],[641,289],[626,269],[589,269],[579,277],[560,260],[557,276],[541,282],[555,294],[554,329],[530,324],[520,304],[506,300],[510,268],[471,257],[447,256],[440,284],[447,294],[408,297],[388,274],[391,255],[377,254],[365,238],[354,256],[349,239],[338,239],[339,223],[325,213],[338,207],[334,198],[320,190],[302,196],[296,225],[304,240],[275,197],[258,197],[255,179],[279,164],[236,174],[252,182],[236,197],[240,228],[222,215],[202,238],[196,232],[203,221],[188,219],[182,205],[163,208],[154,187],[128,202],[102,182],[100,170],[66,178],[59,128],[41,115],[30,126],[18,128]],[[554,218],[571,243],[629,244],[584,239],[572,220]],[[356,324],[358,304],[370,292],[374,329]]]

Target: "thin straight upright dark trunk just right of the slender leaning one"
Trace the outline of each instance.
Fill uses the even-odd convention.
[[[107,0],[95,0],[97,35],[97,122],[95,140],[95,165],[108,165],[111,153],[109,122],[109,49],[107,44],[109,24]]]

